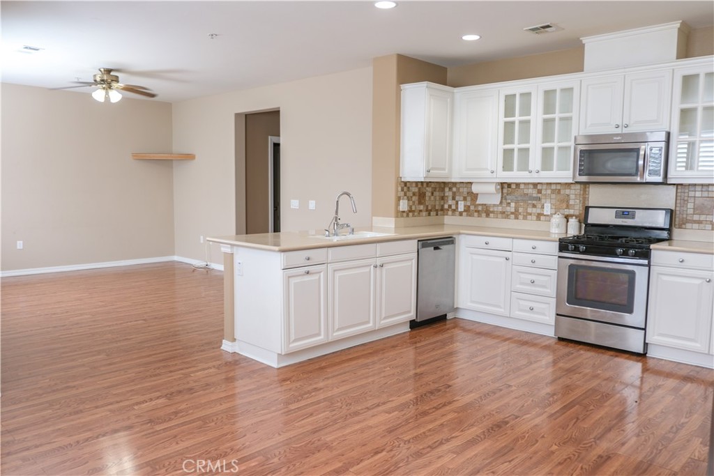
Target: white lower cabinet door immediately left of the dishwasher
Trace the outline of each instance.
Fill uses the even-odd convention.
[[[416,253],[378,260],[377,327],[416,317]]]

